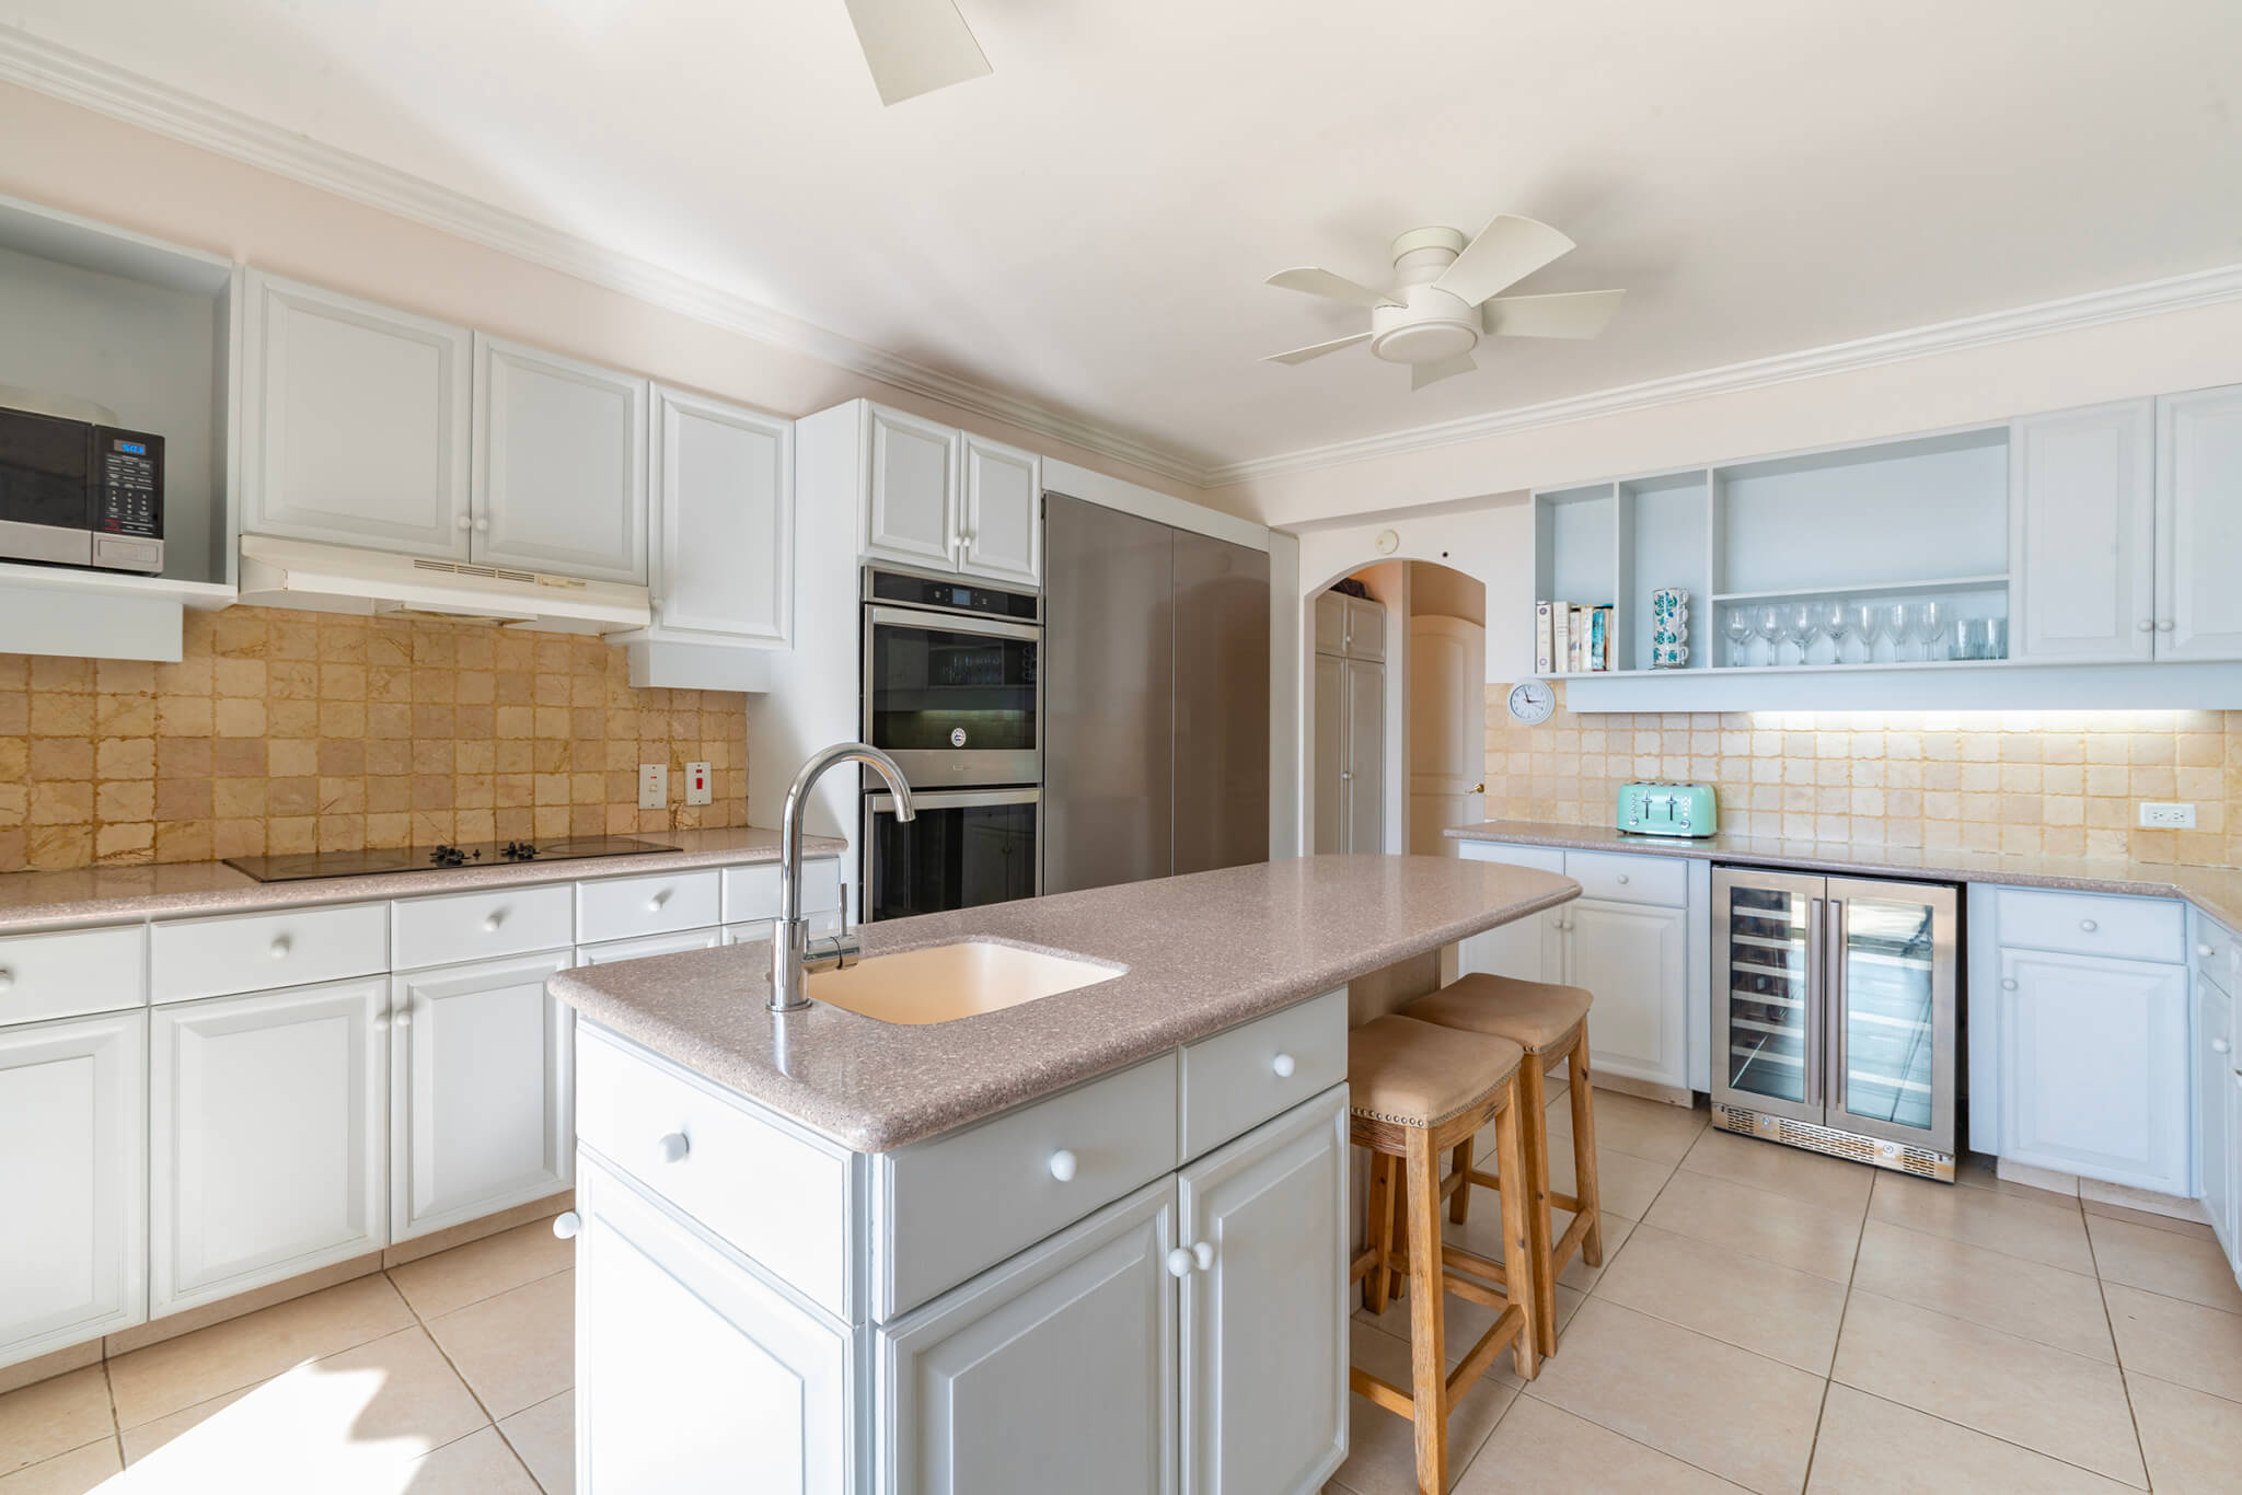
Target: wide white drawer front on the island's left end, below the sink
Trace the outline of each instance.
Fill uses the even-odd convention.
[[[852,1318],[845,1150],[758,1116],[596,1022],[576,1029],[576,1141]]]

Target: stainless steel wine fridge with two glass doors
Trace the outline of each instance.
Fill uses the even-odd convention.
[[[1713,870],[1713,1125],[1955,1177],[1955,890]]]

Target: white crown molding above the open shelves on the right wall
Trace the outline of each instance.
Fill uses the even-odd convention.
[[[1776,354],[1771,359],[1726,363],[1722,368],[1648,379],[1643,383],[1549,399],[1534,406],[1466,415],[1462,419],[1437,421],[1433,426],[1412,426],[1408,430],[1388,430],[1383,435],[1359,437],[1352,442],[1307,446],[1291,453],[1278,453],[1273,457],[1226,462],[1206,468],[1199,486],[1224,489],[1240,482],[1260,482],[1264,477],[1285,477],[1289,473],[1343,466],[1347,462],[1397,457],[1403,453],[1457,446],[1462,442],[1480,442],[1484,437],[1513,435],[1542,426],[1587,421],[1603,415],[1623,415],[1628,410],[1650,410],[1655,406],[1670,406],[1684,399],[1706,399],[1711,394],[1733,394],[1738,390],[1821,379],[1823,374],[1843,374],[1847,370],[1877,368],[1879,363],[1901,363],[1906,359],[1928,359],[1933,354],[1962,352],[1968,347],[1991,347],[1995,343],[2013,343],[2020,338],[2047,336],[2051,332],[2074,332],[2078,327],[2096,327],[2101,323],[2119,323],[2137,316],[2157,316],[2161,312],[2186,312],[2190,307],[2208,307],[2224,300],[2242,300],[2242,264],[2220,264],[2215,269],[2170,276],[2166,280],[2143,280],[2139,285],[2121,285],[2110,291],[2087,291],[2085,296],[2042,300],[2029,307],[1986,312],[1982,316],[1964,316],[1951,323],[1933,323],[1928,327],[1881,332],[1877,336],[1854,338],[1852,343],[1829,343],[1827,347],[1807,347],[1800,352]]]

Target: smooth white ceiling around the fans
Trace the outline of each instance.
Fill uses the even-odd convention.
[[[2242,4],[960,0],[883,110],[841,0],[9,0],[4,20],[1222,464],[2242,262]],[[1628,287],[1410,394],[1386,242],[1495,211]]]

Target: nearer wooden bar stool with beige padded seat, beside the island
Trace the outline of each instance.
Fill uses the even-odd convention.
[[[1372,1201],[1370,1244],[1354,1257],[1352,1280],[1372,1278],[1383,1309],[1386,1273],[1397,1269],[1395,1217],[1408,1222],[1410,1293],[1410,1390],[1403,1392],[1365,1369],[1352,1372],[1356,1392],[1417,1426],[1417,1488],[1446,1495],[1448,1408],[1509,1347],[1525,1381],[1540,1372],[1536,1296],[1502,1291],[1504,1273],[1462,1246],[1439,1239],[1439,1206],[1446,1190],[1439,1157],[1489,1121],[1495,1123],[1498,1166],[1522,1177],[1518,1069],[1525,1051],[1484,1033],[1439,1029],[1410,1018],[1377,1018],[1347,1036],[1347,1087],[1352,1094],[1352,1139],[1370,1150]],[[1401,1179],[1395,1179],[1395,1172]],[[1457,1181],[1462,1183],[1462,1181]],[[1399,1204],[1395,1192],[1401,1195]],[[1529,1262],[1525,1208],[1504,1208],[1504,1251]],[[1444,1345],[1444,1293],[1500,1309],[1493,1327],[1448,1374]]]

